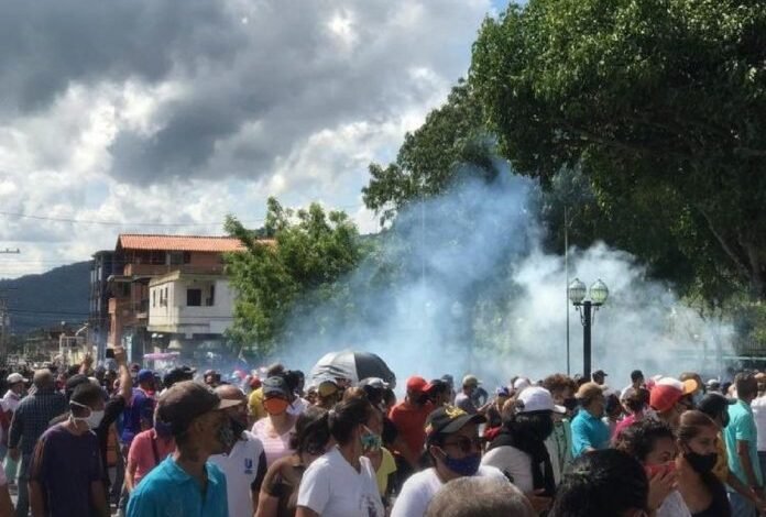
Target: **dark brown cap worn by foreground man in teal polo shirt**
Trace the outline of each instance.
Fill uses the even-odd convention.
[[[239,400],[221,399],[205,384],[184,381],[174,384],[162,394],[157,403],[157,417],[165,424],[169,424],[173,435],[178,436],[195,418],[238,404],[240,404]]]

